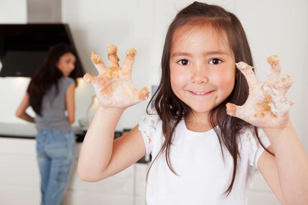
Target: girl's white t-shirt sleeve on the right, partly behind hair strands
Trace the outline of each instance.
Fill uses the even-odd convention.
[[[258,128],[258,136],[260,141],[262,142],[262,145],[267,148],[269,145],[271,145],[271,142],[269,142],[267,136],[263,132],[262,129]],[[252,166],[252,169],[254,171],[258,171],[258,161],[261,156],[261,154],[265,151],[264,148],[261,146],[259,140],[257,139],[257,136],[254,136],[252,132],[247,132],[246,134],[246,140],[248,141],[248,147],[249,147],[249,165]]]

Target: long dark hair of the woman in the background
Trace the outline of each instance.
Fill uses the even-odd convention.
[[[60,57],[66,53],[72,53],[77,56],[74,49],[68,44],[56,44],[47,51],[43,65],[33,74],[27,93],[30,98],[30,106],[37,115],[41,115],[43,96],[51,88],[56,86],[56,93],[58,92],[57,82],[63,76],[62,72],[57,68],[57,63]],[[70,73],[69,77],[75,80],[78,76],[78,64],[75,64],[75,69]]]

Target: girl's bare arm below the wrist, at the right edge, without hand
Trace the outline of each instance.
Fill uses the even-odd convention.
[[[275,157],[266,151],[258,168],[282,204],[308,204],[308,156],[291,121],[283,130],[263,130]]]

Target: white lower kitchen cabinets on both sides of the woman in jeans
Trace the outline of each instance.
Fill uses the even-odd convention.
[[[40,175],[34,139],[0,137],[0,204],[40,204]],[[64,205],[144,205],[148,165],[135,163],[99,182],[85,182],[77,174],[81,144],[76,144],[76,163]]]

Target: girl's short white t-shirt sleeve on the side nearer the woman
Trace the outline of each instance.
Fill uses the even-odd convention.
[[[142,134],[146,154],[149,155],[152,152],[153,140],[155,140],[156,130],[159,124],[159,116],[155,110],[150,110],[141,117],[139,121],[139,130]]]

